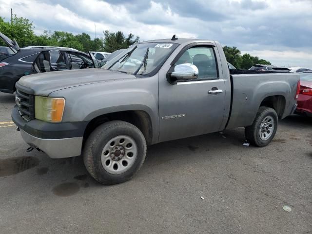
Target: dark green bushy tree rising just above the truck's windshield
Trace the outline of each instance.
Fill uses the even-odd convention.
[[[104,48],[106,52],[114,52],[115,50],[128,48],[130,45],[133,45],[139,42],[139,37],[130,33],[126,37],[122,32],[110,32],[105,30],[104,32]]]

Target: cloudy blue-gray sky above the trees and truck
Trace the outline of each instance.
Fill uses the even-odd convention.
[[[214,39],[278,66],[312,68],[312,0],[0,0],[33,21],[36,34],[61,30],[97,37],[123,31],[141,40]]]

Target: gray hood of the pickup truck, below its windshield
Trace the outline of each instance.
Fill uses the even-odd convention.
[[[60,89],[129,78],[136,77],[116,71],[92,68],[28,75],[20,78],[19,84],[34,90],[35,95],[48,96]]]

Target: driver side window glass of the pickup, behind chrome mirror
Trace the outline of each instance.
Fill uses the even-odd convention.
[[[198,69],[197,79],[218,79],[214,49],[211,47],[192,47],[176,61],[175,66],[192,63]]]

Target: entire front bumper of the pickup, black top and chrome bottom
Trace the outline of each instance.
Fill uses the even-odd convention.
[[[72,123],[48,123],[38,119],[26,122],[15,106],[12,120],[20,128],[23,140],[51,158],[81,155],[83,133],[88,121]]]

